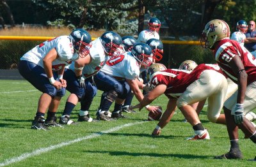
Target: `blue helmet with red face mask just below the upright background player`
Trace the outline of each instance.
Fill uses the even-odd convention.
[[[154,60],[159,62],[163,58],[164,54],[162,41],[151,38],[147,41],[147,45],[152,49]]]

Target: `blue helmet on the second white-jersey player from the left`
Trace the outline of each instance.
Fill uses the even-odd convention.
[[[118,48],[122,44],[122,38],[119,34],[113,31],[107,31],[100,36],[100,41],[104,51],[109,56],[116,56],[120,54],[120,50],[118,50]]]

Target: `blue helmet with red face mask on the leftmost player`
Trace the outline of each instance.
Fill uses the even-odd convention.
[[[74,50],[76,50],[79,57],[83,58],[90,52],[92,38],[90,34],[84,29],[75,29],[69,35],[73,43]]]

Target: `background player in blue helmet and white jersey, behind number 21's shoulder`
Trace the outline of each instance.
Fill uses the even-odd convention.
[[[248,25],[246,21],[239,20],[236,24],[236,32],[232,33],[230,40],[235,40],[240,43],[241,46],[244,46],[244,40],[246,40],[245,33],[248,30]]]

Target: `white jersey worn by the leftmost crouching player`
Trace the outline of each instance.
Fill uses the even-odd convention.
[[[79,57],[77,53],[74,53],[70,38],[68,36],[59,36],[52,40],[44,41],[44,43],[32,48],[24,54],[20,60],[33,62],[44,68],[44,57],[52,48],[55,48],[59,55],[58,59],[52,62],[52,71],[58,71]]]

